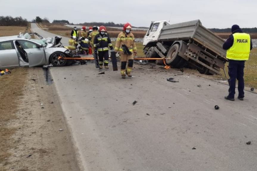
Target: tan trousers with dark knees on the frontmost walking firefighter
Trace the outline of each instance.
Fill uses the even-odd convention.
[[[124,76],[126,75],[126,73],[130,74],[132,71],[133,62],[134,62],[133,54],[132,55],[120,54],[120,56],[121,56],[121,75]]]

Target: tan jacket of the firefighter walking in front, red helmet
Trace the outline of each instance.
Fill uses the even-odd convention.
[[[131,32],[129,34],[126,34],[124,31],[119,33],[114,50],[116,52],[119,51],[119,53],[124,54],[124,51],[121,48],[123,44],[128,47],[130,52],[137,52],[135,37]]]

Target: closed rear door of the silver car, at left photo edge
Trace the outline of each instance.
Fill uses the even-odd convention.
[[[17,66],[19,66],[19,59],[13,41],[0,42],[0,68]]]

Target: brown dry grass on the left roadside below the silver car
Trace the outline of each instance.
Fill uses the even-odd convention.
[[[12,148],[11,136],[16,129],[8,128],[7,123],[15,119],[18,100],[23,95],[24,84],[27,81],[28,68],[15,68],[9,75],[0,76],[0,163],[4,164],[10,156],[8,150]]]

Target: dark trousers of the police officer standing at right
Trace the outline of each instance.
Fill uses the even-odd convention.
[[[236,89],[236,79],[238,80],[238,97],[244,97],[244,62],[229,59],[228,64],[228,97],[234,98]]]

